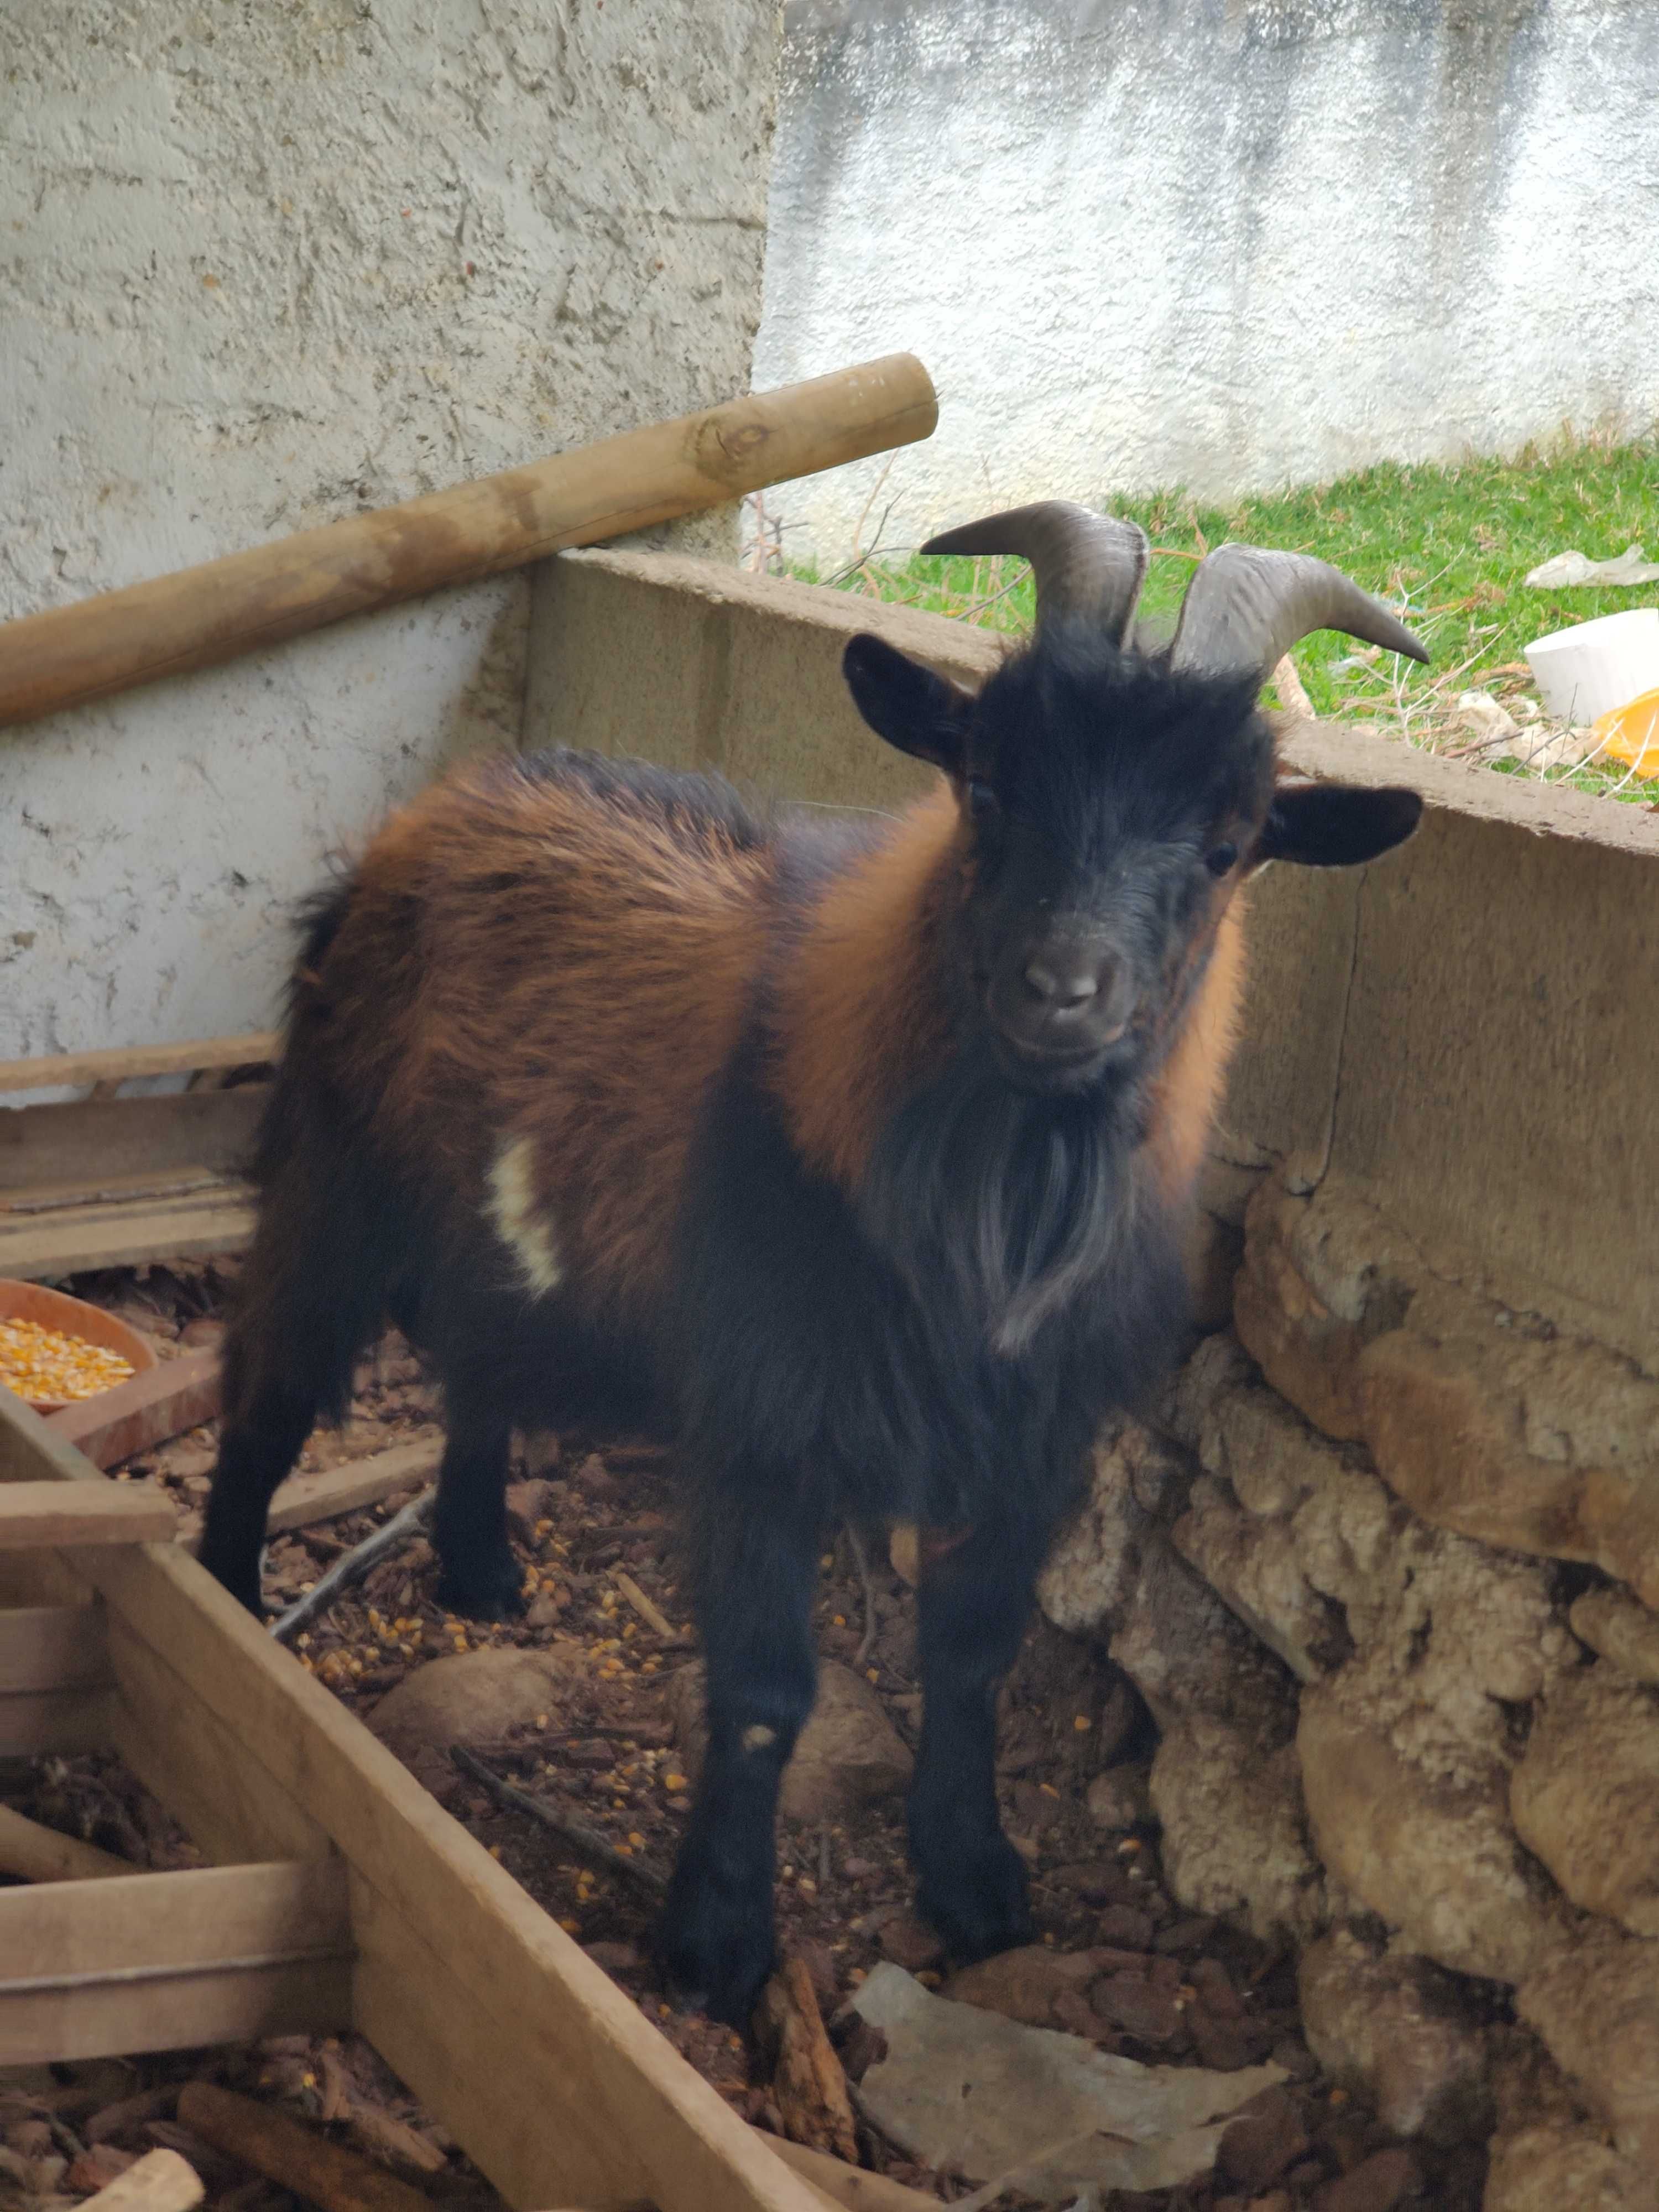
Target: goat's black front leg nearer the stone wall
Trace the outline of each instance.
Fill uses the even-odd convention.
[[[916,1909],[956,1960],[1031,1942],[1024,1860],[1002,1834],[995,1701],[1031,1615],[1046,1531],[984,1526],[918,1590],[922,1743],[909,1794]]]

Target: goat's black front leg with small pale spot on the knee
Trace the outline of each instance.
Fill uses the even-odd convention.
[[[816,1694],[818,1528],[774,1504],[785,1498],[787,1484],[774,1478],[703,1509],[708,1752],[657,1938],[675,1984],[737,2028],[748,2026],[776,1962],[779,1781]]]

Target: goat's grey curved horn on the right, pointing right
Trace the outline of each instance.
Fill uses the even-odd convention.
[[[1310,630],[1345,630],[1367,644],[1427,661],[1402,622],[1312,553],[1217,546],[1199,562],[1170,646],[1170,668],[1256,675],[1267,681]]]

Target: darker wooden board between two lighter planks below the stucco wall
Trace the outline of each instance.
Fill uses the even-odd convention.
[[[170,1097],[73,1099],[0,1113],[0,1190],[80,1183],[164,1168],[241,1172],[252,1157],[270,1084],[179,1091]]]

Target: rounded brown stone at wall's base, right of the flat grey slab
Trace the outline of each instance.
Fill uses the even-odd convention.
[[[1389,2135],[1458,2143],[1491,2128],[1486,2033],[1449,1973],[1336,1929],[1303,1953],[1298,1993],[1307,2048]]]

